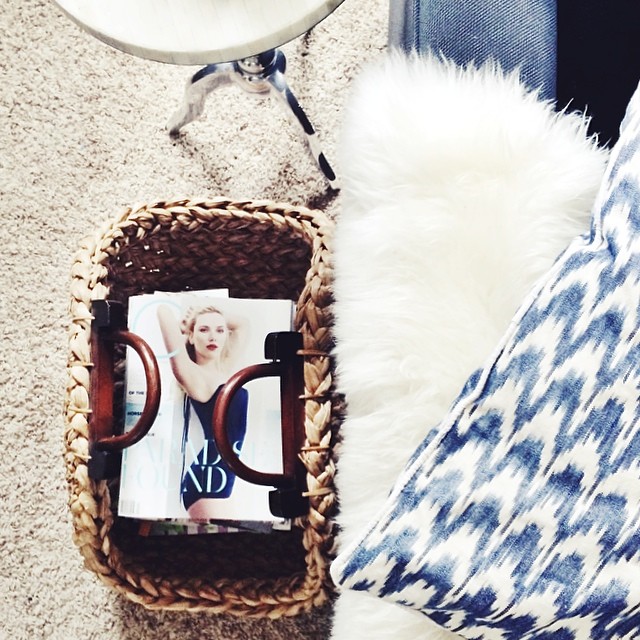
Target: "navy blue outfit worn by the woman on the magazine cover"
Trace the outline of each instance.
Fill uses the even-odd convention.
[[[213,439],[213,410],[222,385],[207,402],[187,398],[185,407],[185,434],[188,438],[190,406],[193,406],[204,431],[205,442],[182,478],[180,491],[185,509],[200,498],[228,498],[231,495],[235,474],[218,453]],[[227,435],[236,453],[240,453],[247,431],[247,404],[249,394],[239,389],[234,395],[227,414]]]

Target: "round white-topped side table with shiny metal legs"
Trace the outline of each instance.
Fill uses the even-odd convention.
[[[169,64],[204,64],[188,81],[169,132],[203,111],[221,84],[280,99],[302,128],[332,187],[336,176],[311,122],[289,89],[278,49],[332,13],[343,0],[54,0],[73,21],[125,53]]]

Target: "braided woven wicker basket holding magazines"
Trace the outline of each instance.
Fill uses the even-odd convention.
[[[86,566],[153,609],[295,615],[331,590],[332,438],[339,423],[331,362],[331,221],[267,202],[161,202],[128,210],[83,243],[72,269],[65,462],[74,539]],[[229,288],[298,301],[303,334],[309,512],[291,532],[140,538],[115,516],[117,483],[88,475],[91,301],[154,290]],[[119,362],[124,366],[123,360]]]

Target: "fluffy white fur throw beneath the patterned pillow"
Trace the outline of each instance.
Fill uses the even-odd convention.
[[[606,153],[495,66],[386,54],[356,80],[335,238],[338,541],[492,353],[534,281],[589,227]],[[355,592],[333,640],[457,636]]]

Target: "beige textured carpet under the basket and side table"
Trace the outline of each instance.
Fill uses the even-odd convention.
[[[350,82],[386,30],[384,0],[346,0],[284,47],[334,164]],[[326,638],[329,607],[277,621],[148,612],[86,571],[71,541],[62,406],[69,269],[97,225],[164,198],[267,198],[335,214],[340,196],[275,101],[224,88],[172,140],[165,123],[197,67],[113,50],[47,0],[4,0],[0,33],[0,638]]]

